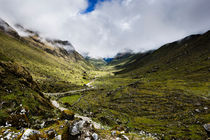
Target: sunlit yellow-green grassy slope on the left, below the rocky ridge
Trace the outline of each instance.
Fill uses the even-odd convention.
[[[26,67],[43,90],[65,90],[65,85],[83,85],[84,72],[93,69],[83,59],[73,61],[48,53],[25,39],[16,39],[0,32],[0,52]],[[77,55],[77,54],[74,54]]]

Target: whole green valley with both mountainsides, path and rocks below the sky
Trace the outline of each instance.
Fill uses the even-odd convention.
[[[208,139],[210,31],[107,63],[2,23],[0,138]]]

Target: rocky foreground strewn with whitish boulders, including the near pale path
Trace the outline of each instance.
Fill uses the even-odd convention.
[[[11,114],[11,120],[5,126],[0,126],[1,140],[129,140],[129,139],[159,139],[144,131],[139,134],[129,133],[123,128],[109,129],[91,118],[74,114],[59,105],[57,101],[52,104],[61,114],[59,118],[35,120],[32,125],[27,119],[29,110],[20,105],[21,110]],[[55,108],[55,109],[56,109]],[[13,119],[13,120],[12,120]],[[19,125],[19,126],[18,126]]]

